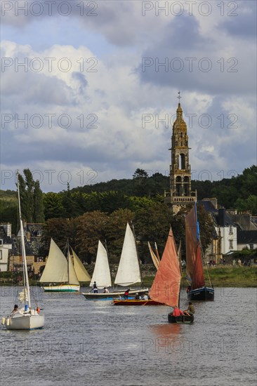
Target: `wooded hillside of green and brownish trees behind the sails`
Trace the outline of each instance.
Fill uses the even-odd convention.
[[[41,192],[39,181],[34,181],[29,169],[20,175],[22,218],[27,222],[43,222],[42,255],[47,255],[50,238],[60,247],[69,238],[81,258],[91,262],[95,258],[98,239],[110,248],[115,261],[121,253],[126,222],[133,222],[140,258],[149,258],[147,241],[157,241],[164,248],[169,226],[172,225],[177,243],[185,239],[185,211],[173,216],[163,204],[164,190],[169,191],[169,177],[161,173],[148,175],[137,169],[131,180],[111,180],[95,185],[85,185],[62,192]],[[246,168],[242,175],[220,181],[192,181],[198,200],[216,197],[220,206],[249,210],[257,215],[257,167]],[[0,192],[2,222],[12,222],[13,232],[18,232],[18,205],[15,192]],[[188,208],[187,208],[188,210]],[[202,244],[209,244],[212,223],[199,206],[202,222]],[[212,229],[212,230],[211,230]],[[184,242],[184,241],[183,241]],[[183,251],[185,247],[183,245]]]

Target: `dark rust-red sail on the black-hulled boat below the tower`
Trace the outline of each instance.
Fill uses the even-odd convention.
[[[197,239],[197,215],[195,207],[185,216],[185,246],[187,275],[192,280],[192,288],[204,286],[202,254]]]

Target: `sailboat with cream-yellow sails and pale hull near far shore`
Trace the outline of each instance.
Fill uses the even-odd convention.
[[[67,258],[65,258],[58,245],[51,239],[46,267],[39,279],[40,283],[48,284],[43,286],[45,292],[77,292],[80,289],[79,281],[91,280],[76,253],[73,250],[72,253],[74,264],[69,246],[67,246]]]

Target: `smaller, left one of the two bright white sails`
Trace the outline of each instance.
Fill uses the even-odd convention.
[[[90,286],[93,286],[94,281],[98,288],[112,286],[107,251],[100,240],[98,241],[98,253],[96,255],[95,269],[93,270]]]

